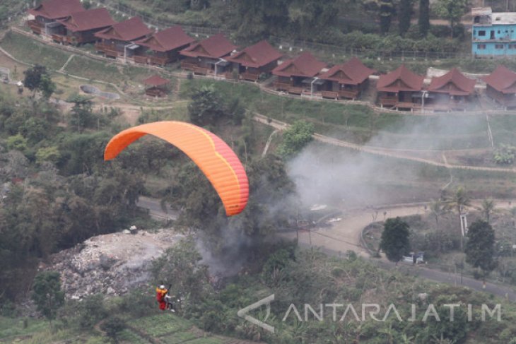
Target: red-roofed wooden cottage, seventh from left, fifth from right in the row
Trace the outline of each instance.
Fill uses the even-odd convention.
[[[326,66],[327,64],[315,59],[310,52],[305,52],[273,69],[272,73],[277,76],[274,88],[295,95],[301,95],[304,90],[309,89],[313,95],[324,83],[317,76]]]

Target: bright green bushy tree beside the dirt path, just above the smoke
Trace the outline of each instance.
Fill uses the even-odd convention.
[[[278,146],[278,154],[283,158],[292,158],[312,141],[314,132],[313,124],[303,120],[295,121],[283,131],[283,142]]]

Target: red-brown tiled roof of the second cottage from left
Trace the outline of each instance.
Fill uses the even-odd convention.
[[[111,18],[110,13],[104,7],[72,13],[66,19],[58,21],[63,24],[67,30],[74,32],[107,28],[117,23]]]

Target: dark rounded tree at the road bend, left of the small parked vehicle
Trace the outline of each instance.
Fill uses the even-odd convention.
[[[409,225],[401,218],[389,218],[385,221],[380,239],[380,249],[389,261],[400,261],[409,252]]]

